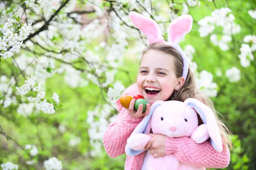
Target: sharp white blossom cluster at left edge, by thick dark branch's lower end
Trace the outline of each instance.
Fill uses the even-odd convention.
[[[19,34],[15,32],[13,28],[13,20],[8,19],[8,22],[4,24],[3,28],[0,30],[3,32],[3,37],[0,37],[0,56],[3,59],[7,57],[12,57],[13,52],[18,53],[20,51],[20,45],[22,44],[23,40],[29,36],[32,30],[32,23],[24,24],[19,29]]]

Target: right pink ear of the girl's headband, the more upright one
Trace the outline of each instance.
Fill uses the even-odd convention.
[[[180,40],[190,32],[193,19],[191,15],[181,15],[173,20],[169,26],[169,42],[178,44]]]

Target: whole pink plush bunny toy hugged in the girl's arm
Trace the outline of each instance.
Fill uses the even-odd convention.
[[[151,139],[144,133],[163,134],[169,137],[190,136],[196,143],[203,143],[209,137],[212,146],[222,152],[221,134],[212,110],[197,99],[180,101],[156,101],[151,105],[148,116],[145,116],[134,129],[127,140],[125,153],[135,156],[142,153],[145,145]],[[198,126],[198,116],[204,124]],[[175,156],[168,155],[154,158],[146,155],[144,159],[146,170],[202,170],[202,167],[192,167],[179,162]]]

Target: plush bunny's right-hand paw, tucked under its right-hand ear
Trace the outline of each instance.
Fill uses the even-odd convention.
[[[198,126],[194,132],[192,133],[192,135],[190,136],[190,138],[195,142],[195,143],[203,143],[205,142],[207,139],[209,139],[210,135],[208,133],[207,130],[207,125],[203,124]]]

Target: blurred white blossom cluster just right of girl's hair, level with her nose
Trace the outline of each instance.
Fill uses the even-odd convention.
[[[203,70],[199,74],[195,74],[197,87],[207,96],[217,96],[217,84],[212,82],[213,76],[211,73]]]

